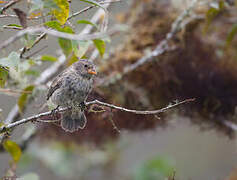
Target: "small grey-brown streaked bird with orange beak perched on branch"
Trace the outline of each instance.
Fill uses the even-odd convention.
[[[95,66],[86,59],[80,59],[65,69],[53,80],[47,100],[62,107],[71,107],[63,113],[61,126],[65,131],[74,132],[86,125],[85,100],[92,90]],[[56,108],[56,109],[57,109]]]

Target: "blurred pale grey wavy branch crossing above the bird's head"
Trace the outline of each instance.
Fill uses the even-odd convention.
[[[115,32],[117,32],[117,28],[112,28],[111,30],[107,32],[96,32],[93,34],[69,34],[69,33],[64,33],[64,32],[59,32],[53,29],[46,29],[44,27],[29,27],[26,28],[22,31],[17,32],[14,36],[10,37],[6,41],[4,41],[2,44],[0,44],[0,50],[3,48],[6,48],[9,46],[11,43],[14,41],[18,40],[25,34],[35,34],[35,33],[45,33],[49,34],[52,36],[60,37],[60,38],[65,38],[65,39],[70,39],[70,40],[78,40],[78,41],[87,41],[87,40],[93,40],[93,39],[100,39],[100,38],[105,38],[108,35],[111,35]]]

